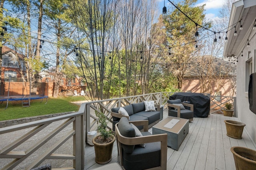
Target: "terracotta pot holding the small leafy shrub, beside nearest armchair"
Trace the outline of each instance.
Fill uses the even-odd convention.
[[[98,136],[94,139],[96,138],[98,138]],[[98,164],[107,164],[112,159],[112,149],[116,137],[113,136],[113,140],[111,142],[104,144],[96,143],[94,139],[92,139],[92,143],[94,144],[95,150],[95,162]]]

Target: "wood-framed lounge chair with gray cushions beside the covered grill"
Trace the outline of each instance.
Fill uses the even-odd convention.
[[[180,117],[193,121],[194,119],[194,105],[183,103],[180,99],[167,100],[168,116]],[[186,109],[184,106],[190,107]]]

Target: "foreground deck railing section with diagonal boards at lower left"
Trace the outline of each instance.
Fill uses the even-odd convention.
[[[62,122],[56,123],[58,121]],[[53,125],[51,125],[51,128],[48,128],[48,125],[50,124]],[[68,125],[72,127],[66,128]],[[16,136],[12,135],[12,133],[19,130],[22,130],[22,132],[25,133],[18,134],[20,136],[16,139]],[[44,131],[44,134],[40,134],[42,131]],[[84,169],[85,141],[83,111],[10,127],[3,127],[0,128],[0,135],[1,137],[4,136],[9,138],[1,139],[1,143],[4,140],[7,141],[6,146],[0,150],[0,162],[6,161],[6,164],[2,167],[3,170],[17,169],[16,166],[23,161],[26,161],[27,163],[25,169],[30,170],[31,168],[39,166],[46,159],[70,159],[73,160],[73,167],[65,167],[62,169]],[[42,137],[38,139],[39,135],[42,135]],[[68,139],[73,140],[73,153],[54,154],[54,151],[64,145]],[[8,141],[10,141],[10,143],[8,143]],[[49,146],[47,143],[50,141],[52,142]],[[28,145],[28,143],[30,143],[30,145]],[[1,145],[3,144],[4,143]],[[23,145],[24,147],[20,147]],[[48,145],[48,147],[45,145]],[[27,159],[30,160],[28,161]]]

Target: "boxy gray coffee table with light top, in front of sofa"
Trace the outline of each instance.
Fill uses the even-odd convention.
[[[167,133],[167,146],[178,150],[188,134],[189,120],[168,116],[152,127],[152,134]]]

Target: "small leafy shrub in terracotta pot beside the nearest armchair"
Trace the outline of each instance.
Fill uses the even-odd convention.
[[[92,139],[95,150],[95,162],[98,164],[107,164],[112,159],[112,149],[115,137],[112,131],[107,130],[107,118],[102,112],[96,112],[99,124],[98,131],[100,135]]]

